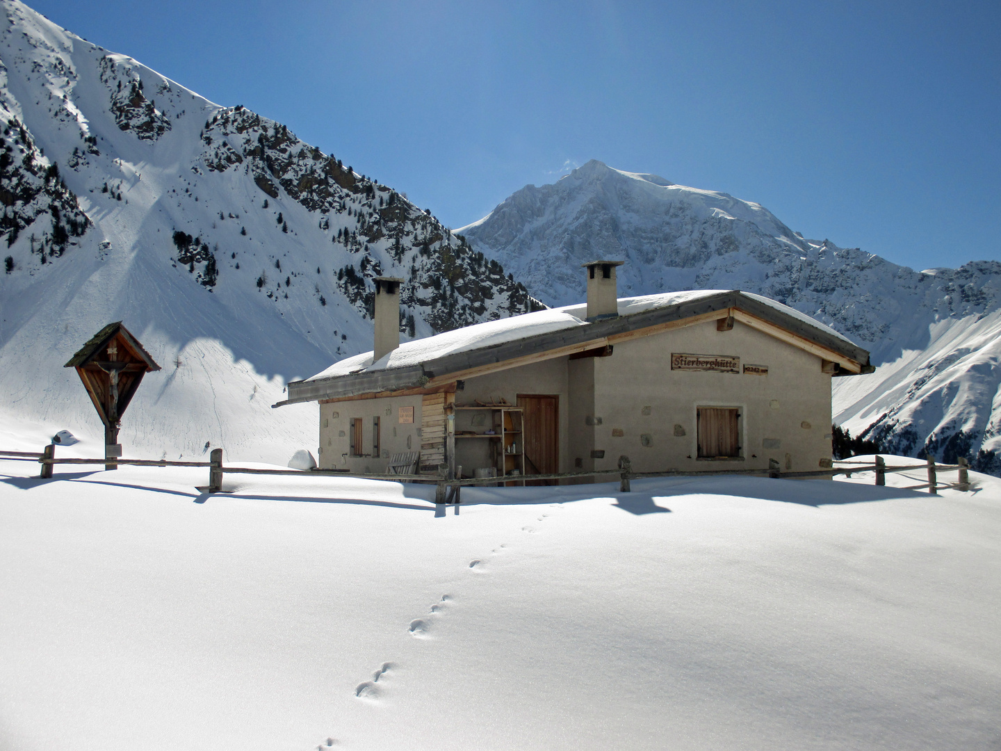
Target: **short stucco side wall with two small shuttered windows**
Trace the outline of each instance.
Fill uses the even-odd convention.
[[[399,423],[399,408],[413,408],[413,423]],[[378,416],[380,457],[349,457],[351,418],[362,421],[364,454],[372,447],[372,418]],[[420,397],[390,397],[356,402],[335,402],[319,406],[319,456],[316,463],[324,470],[381,473],[389,457],[420,450]],[[407,446],[409,439],[409,446]]]

